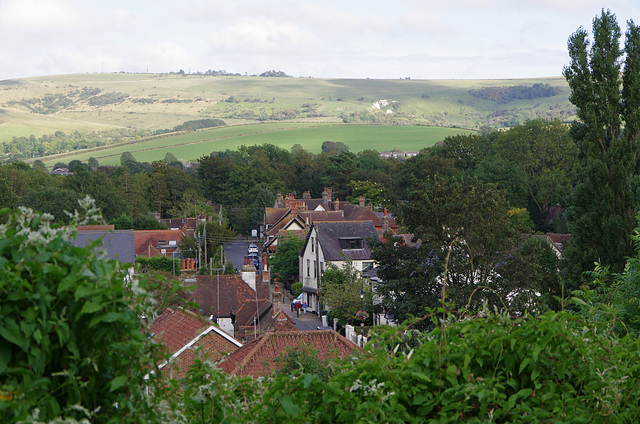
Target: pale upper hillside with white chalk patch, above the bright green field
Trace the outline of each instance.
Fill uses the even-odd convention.
[[[499,104],[473,97],[471,89],[530,86],[534,83],[561,87],[560,94],[534,100]],[[84,89],[101,90],[100,94],[123,93],[120,102],[92,106],[74,98]],[[34,101],[51,95],[65,95],[71,100],[55,113],[21,117],[13,112],[29,109],[16,102]],[[163,74],[76,74],[0,81],[0,141],[15,134],[36,136],[51,132],[52,127],[69,130],[74,126],[93,128],[131,127],[167,129],[187,120],[203,117],[225,119],[230,124],[255,122],[253,116],[267,116],[281,111],[298,111],[296,120],[341,122],[341,116],[356,112],[379,112],[375,102],[393,100],[393,115],[400,121],[439,126],[478,128],[498,126],[499,116],[524,119],[548,116],[553,108],[571,108],[565,80],[542,78],[528,80],[370,80],[321,78],[265,78]],[[230,97],[236,102],[227,102]],[[303,107],[306,105],[306,107]],[[389,109],[391,110],[391,109]],[[37,114],[27,114],[37,115]],[[248,115],[243,117],[242,115]],[[306,113],[309,115],[309,113]],[[56,123],[57,122],[57,123]],[[18,131],[16,125],[25,130]]]

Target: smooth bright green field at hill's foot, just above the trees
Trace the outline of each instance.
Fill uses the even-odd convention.
[[[101,165],[119,165],[120,156],[131,152],[140,162],[161,160],[171,152],[183,161],[195,160],[214,151],[235,150],[245,145],[265,143],[290,150],[294,144],[319,153],[322,143],[330,140],[343,142],[352,152],[366,149],[377,151],[418,151],[443,140],[449,135],[470,133],[468,130],[438,127],[393,127],[360,125],[319,125],[311,123],[247,124],[202,130],[188,134],[156,138],[122,145],[106,146],[54,155],[41,160],[48,167],[56,162],[98,159]]]

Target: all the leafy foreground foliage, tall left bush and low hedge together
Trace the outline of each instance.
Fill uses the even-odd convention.
[[[640,420],[640,340],[567,312],[441,308],[431,332],[379,330],[329,370],[289,352],[289,373],[237,378],[201,360],[158,385],[135,285],[49,219],[24,209],[0,227],[3,423]]]

